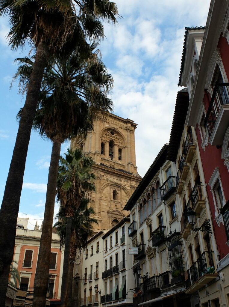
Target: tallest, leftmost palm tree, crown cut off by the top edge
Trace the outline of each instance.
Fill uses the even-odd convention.
[[[2,15],[7,15],[10,20],[8,39],[11,48],[17,49],[28,42],[36,55],[0,210],[0,245],[5,247],[0,250],[3,267],[0,305],[5,302],[25,161],[48,56],[66,58],[73,50],[87,49],[90,52],[86,40],[102,39],[101,20],[115,23],[118,11],[116,4],[109,0],[0,0]],[[10,228],[7,227],[9,223]]]

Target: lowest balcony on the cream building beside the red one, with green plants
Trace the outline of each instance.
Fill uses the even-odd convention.
[[[185,292],[193,293],[206,286],[217,276],[218,274],[215,273],[212,251],[205,251],[189,269],[191,286]]]

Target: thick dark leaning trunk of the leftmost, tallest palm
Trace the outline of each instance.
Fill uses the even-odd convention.
[[[26,94],[25,105],[17,131],[17,138],[2,199],[0,210],[0,246],[4,248],[0,248],[0,268],[3,267],[2,274],[0,270],[0,306],[4,306],[5,304],[10,263],[13,259],[25,161],[47,58],[48,47],[46,44],[40,43],[36,50],[31,80]]]

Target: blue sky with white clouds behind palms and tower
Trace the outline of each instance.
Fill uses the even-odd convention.
[[[185,26],[206,24],[210,0],[116,0],[117,25],[104,24],[102,59],[112,74],[110,97],[114,113],[134,120],[136,165],[143,177],[158,152],[169,142],[173,119]],[[10,88],[17,70],[14,60],[30,49],[12,51],[6,41],[7,18],[0,19],[0,203],[4,193],[17,135],[16,115],[25,97],[18,84]],[[62,145],[61,154],[68,144]],[[28,228],[41,224],[52,144],[32,132],[20,200],[20,217],[29,217]],[[58,205],[55,205],[55,213]]]

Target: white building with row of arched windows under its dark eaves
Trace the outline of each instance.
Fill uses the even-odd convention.
[[[177,168],[164,145],[128,200],[134,306],[190,306],[185,294],[186,259],[181,239],[181,203],[176,194]],[[139,276],[140,267],[140,276]]]

